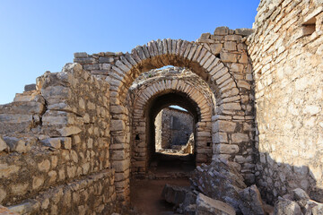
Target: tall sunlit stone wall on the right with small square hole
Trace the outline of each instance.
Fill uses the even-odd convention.
[[[296,187],[323,200],[322,4],[263,0],[248,40],[256,83],[256,176],[269,201]]]

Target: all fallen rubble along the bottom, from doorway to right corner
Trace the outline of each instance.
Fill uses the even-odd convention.
[[[180,214],[323,214],[323,203],[310,200],[301,188],[279,197],[275,207],[266,204],[257,186],[247,187],[240,173],[225,159],[213,159],[210,165],[197,167],[190,180],[190,187],[165,185],[162,191],[164,200],[173,203]]]

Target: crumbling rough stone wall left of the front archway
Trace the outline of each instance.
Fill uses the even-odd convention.
[[[1,204],[36,214],[114,211],[109,83],[66,64],[1,106],[0,118]]]

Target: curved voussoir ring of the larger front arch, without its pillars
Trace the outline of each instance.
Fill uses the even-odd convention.
[[[214,91],[218,104],[226,103],[225,98],[229,102],[240,100],[240,90],[229,69],[203,45],[181,39],[158,39],[120,56],[112,67],[111,90],[116,91],[118,103],[125,104],[127,90],[140,73],[169,64],[186,67],[202,77]]]

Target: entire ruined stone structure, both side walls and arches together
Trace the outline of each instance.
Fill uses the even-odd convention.
[[[0,106],[0,204],[118,211],[131,177],[147,173],[153,120],[170,105],[193,115],[196,167],[228,160],[271,204],[296,188],[323,202],[322,12],[320,0],[261,0],[252,30],[75,53]],[[149,77],[167,65],[183,71]]]

